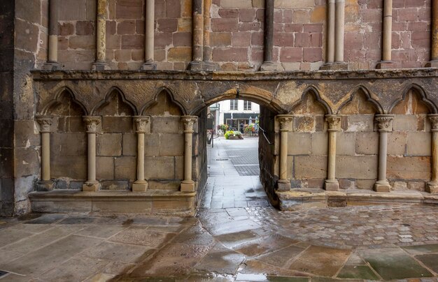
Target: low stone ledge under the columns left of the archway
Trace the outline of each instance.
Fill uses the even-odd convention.
[[[33,192],[29,194],[34,212],[80,212],[93,214],[150,214],[193,216],[196,193],[148,190],[97,191],[75,190]]]

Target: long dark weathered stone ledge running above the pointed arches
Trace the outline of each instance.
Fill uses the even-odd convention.
[[[360,71],[31,71],[34,80],[335,80],[437,77],[437,68],[397,68]]]

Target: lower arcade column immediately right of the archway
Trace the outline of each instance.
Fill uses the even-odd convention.
[[[288,179],[288,132],[289,124],[292,121],[291,114],[278,114],[276,116],[280,123],[280,175],[278,175],[278,191],[290,190],[290,179]]]

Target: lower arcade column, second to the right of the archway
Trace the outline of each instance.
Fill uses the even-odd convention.
[[[341,126],[341,116],[339,114],[327,114],[325,120],[328,125],[329,140],[328,140],[328,167],[327,179],[325,179],[325,190],[339,190],[339,182],[336,179],[336,133]]]

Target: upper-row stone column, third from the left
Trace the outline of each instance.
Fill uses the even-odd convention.
[[[154,61],[155,0],[146,0],[145,6],[145,63],[141,66],[143,71],[157,69]]]

